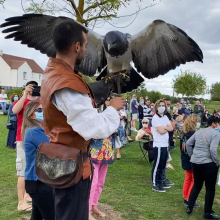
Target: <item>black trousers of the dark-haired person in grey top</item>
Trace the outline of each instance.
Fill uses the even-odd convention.
[[[189,196],[189,206],[193,206],[205,182],[205,213],[212,212],[215,197],[215,185],[218,175],[218,167],[215,163],[195,164],[192,163],[194,185]]]

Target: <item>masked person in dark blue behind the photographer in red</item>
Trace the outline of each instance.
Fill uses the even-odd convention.
[[[12,128],[8,131],[8,138],[7,138],[7,147],[16,148],[16,135],[17,135],[17,116],[12,112],[13,104],[15,101],[19,100],[19,95],[14,93],[11,98],[11,104],[9,105],[8,109],[8,117],[9,121],[12,124]]]

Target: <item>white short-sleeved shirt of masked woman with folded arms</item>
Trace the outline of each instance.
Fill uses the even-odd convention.
[[[169,146],[169,133],[160,134],[157,132],[157,127],[170,125],[170,121],[166,115],[154,115],[152,118],[152,133],[153,133],[153,147],[168,147]]]

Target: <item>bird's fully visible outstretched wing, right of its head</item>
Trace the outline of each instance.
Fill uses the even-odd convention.
[[[131,38],[133,62],[138,72],[151,79],[190,61],[202,62],[198,44],[184,31],[161,20]]]

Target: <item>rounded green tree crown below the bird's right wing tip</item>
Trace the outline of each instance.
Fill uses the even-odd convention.
[[[180,72],[173,80],[174,91],[182,96],[202,95],[206,91],[206,78],[196,72]]]

